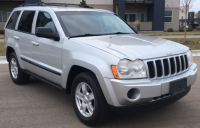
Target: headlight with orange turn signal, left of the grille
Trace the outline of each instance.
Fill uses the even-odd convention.
[[[147,77],[144,62],[141,60],[130,61],[127,59],[123,59],[119,62],[117,66],[112,66],[112,71],[115,78],[119,78],[119,79]]]

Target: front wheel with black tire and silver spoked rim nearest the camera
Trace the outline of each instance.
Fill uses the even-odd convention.
[[[81,122],[100,125],[111,117],[111,111],[96,77],[91,72],[76,76],[72,85],[73,108]]]

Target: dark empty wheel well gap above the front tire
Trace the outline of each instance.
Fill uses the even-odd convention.
[[[91,70],[89,69],[86,69],[84,67],[81,67],[81,66],[77,66],[77,65],[74,65],[71,67],[70,69],[70,72],[69,72],[69,75],[68,75],[68,78],[67,78],[67,85],[66,85],[66,93],[67,94],[70,94],[71,93],[71,87],[72,87],[72,83],[74,81],[74,78],[82,73],[82,72],[86,72],[86,71],[90,71],[91,73],[93,73]],[[94,74],[94,73],[93,73]],[[96,75],[94,74],[94,76],[96,77]]]

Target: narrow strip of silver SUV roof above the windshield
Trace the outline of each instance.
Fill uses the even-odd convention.
[[[90,12],[108,12],[108,13],[113,13],[108,10],[103,10],[103,9],[93,9],[93,8],[84,8],[84,7],[63,7],[63,6],[23,6],[23,7],[18,7],[18,9],[38,9],[38,8],[50,8],[55,12],[60,12],[60,11],[90,11]]]

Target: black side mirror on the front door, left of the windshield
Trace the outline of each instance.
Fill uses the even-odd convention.
[[[58,33],[54,32],[51,28],[47,28],[47,27],[38,27],[35,30],[35,35],[37,37],[44,37],[47,39],[54,39],[55,41],[59,41],[60,37],[58,35]]]

